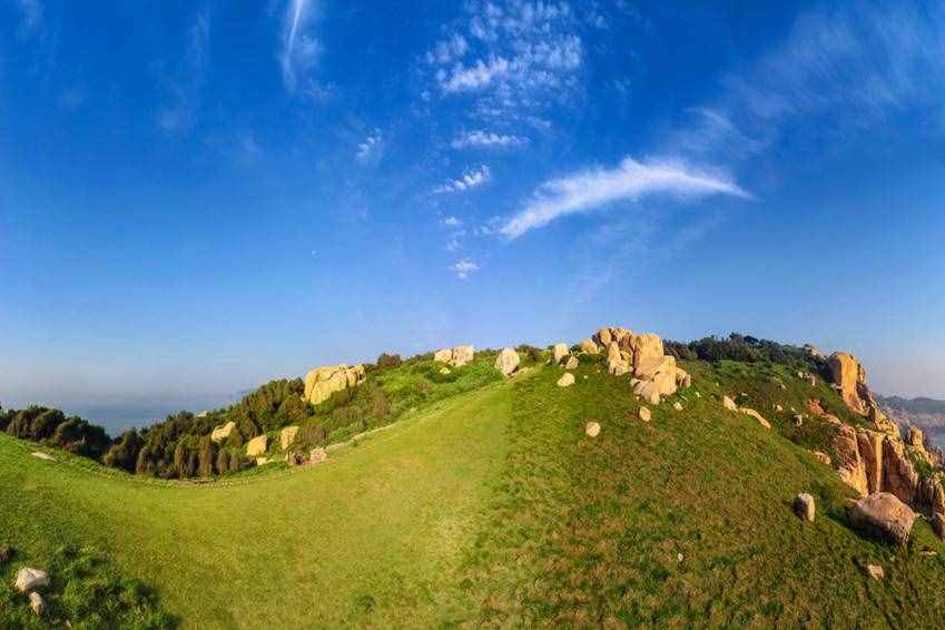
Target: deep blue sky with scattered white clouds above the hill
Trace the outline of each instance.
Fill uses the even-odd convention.
[[[4,0],[0,401],[610,323],[945,397],[945,8],[774,4]]]

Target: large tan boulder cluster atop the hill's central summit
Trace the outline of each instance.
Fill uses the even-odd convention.
[[[581,348],[588,354],[606,353],[611,374],[632,374],[633,393],[650,404],[659,404],[662,396],[692,384],[689,374],[676,365],[676,357],[665,354],[662,339],[653,334],[604,327],[582,341]]]

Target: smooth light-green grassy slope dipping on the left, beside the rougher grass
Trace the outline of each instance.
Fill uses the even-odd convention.
[[[229,485],[88,474],[2,436],[3,535],[38,565],[53,542],[95,544],[186,627],[432,623],[501,467],[510,393],[465,394],[329,464]]]

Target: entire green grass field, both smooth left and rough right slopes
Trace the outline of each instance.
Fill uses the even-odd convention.
[[[829,387],[771,365],[686,368],[693,387],[650,423],[629,377],[584,361],[570,388],[540,367],[328,464],[206,485],[43,462],[0,436],[0,543],[19,550],[2,577],[91,547],[185,628],[937,626],[945,548],[924,521],[904,550],[850,531],[852,491],[809,451],[821,427],[790,422],[811,395],[843,414]],[[813,524],[791,513],[801,491]]]

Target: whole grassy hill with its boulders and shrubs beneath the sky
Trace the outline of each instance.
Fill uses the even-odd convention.
[[[173,419],[167,442],[193,440],[196,456],[175,445],[140,474],[52,449],[56,429],[41,437],[9,412],[0,627],[933,627],[945,613],[938,462],[877,413],[849,355],[604,328],[573,347],[385,362],[285,382],[270,416],[249,401],[282,386]],[[234,415],[249,410],[256,434]],[[136,464],[158,443],[138,437]],[[222,452],[238,465],[217,469]],[[201,466],[201,483],[170,479]],[[20,592],[24,569],[46,582]]]

